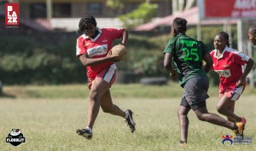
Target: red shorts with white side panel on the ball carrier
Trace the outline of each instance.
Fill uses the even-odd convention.
[[[111,85],[114,83],[114,80],[116,78],[116,66],[113,64],[110,67],[102,70],[100,73],[96,75],[96,78],[102,78],[104,81],[108,82],[108,84],[110,84],[110,87],[111,87]],[[89,89],[94,79],[95,78],[88,78]]]

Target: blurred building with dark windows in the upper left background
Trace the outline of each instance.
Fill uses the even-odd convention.
[[[145,0],[127,0],[124,9],[117,11],[106,6],[106,0],[9,0],[20,3],[20,20],[39,22],[43,26],[61,31],[73,32],[78,28],[79,19],[94,15],[98,26],[122,26],[117,18],[137,9]],[[172,0],[150,0],[157,3],[156,18],[172,14]]]

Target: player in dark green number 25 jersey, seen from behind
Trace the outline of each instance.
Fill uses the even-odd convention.
[[[233,130],[237,136],[243,136],[244,124],[232,123],[217,114],[208,113],[206,100],[209,97],[207,90],[209,80],[207,72],[212,67],[212,57],[209,49],[201,41],[189,38],[187,20],[176,18],[172,23],[172,38],[166,44],[164,66],[172,78],[178,76],[179,83],[184,93],[177,111],[181,132],[181,145],[187,143],[189,131],[188,113],[190,109],[195,112],[198,119],[214,125],[224,126]],[[177,70],[172,67],[174,61]],[[203,61],[206,62],[203,67]]]

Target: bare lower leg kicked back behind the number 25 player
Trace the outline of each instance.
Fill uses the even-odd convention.
[[[223,119],[215,113],[208,113],[207,107],[201,107],[201,108],[195,109],[194,112],[197,118],[202,121],[207,121],[214,125],[224,126],[226,128],[229,128],[230,130],[234,128],[233,122]]]

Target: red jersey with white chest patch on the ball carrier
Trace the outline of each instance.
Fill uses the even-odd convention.
[[[102,58],[108,55],[108,51],[112,49],[113,40],[121,38],[124,32],[123,28],[97,28],[99,34],[92,39],[83,34],[77,39],[77,53],[80,55],[87,54],[90,58]],[[101,72],[106,67],[112,65],[112,61],[103,62],[94,66],[88,66],[88,78],[96,78],[97,73]]]

